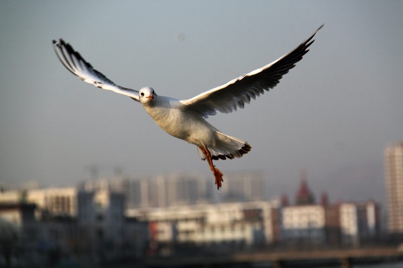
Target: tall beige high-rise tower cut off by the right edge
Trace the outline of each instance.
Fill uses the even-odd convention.
[[[403,141],[385,149],[384,166],[387,229],[390,233],[403,233]]]

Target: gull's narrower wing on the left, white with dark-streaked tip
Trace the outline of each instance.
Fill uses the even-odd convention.
[[[106,78],[105,75],[94,69],[91,64],[80,55],[79,52],[74,51],[69,43],[65,43],[63,39],[52,41],[54,51],[61,63],[73,74],[80,77],[84,82],[93,84],[104,90],[110,90],[119,94],[126,95],[131,99],[140,102],[139,92],[116,85],[114,82]]]

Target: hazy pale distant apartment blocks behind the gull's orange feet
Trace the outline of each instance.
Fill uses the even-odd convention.
[[[264,176],[260,171],[226,172],[224,185],[217,195],[214,180],[193,173],[172,173],[148,178],[121,175],[82,183],[85,191],[123,193],[126,208],[165,208],[206,202],[248,202],[264,200]]]

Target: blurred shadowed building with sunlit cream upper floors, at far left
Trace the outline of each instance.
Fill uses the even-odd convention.
[[[98,262],[141,258],[148,247],[148,224],[125,216],[121,193],[31,191],[24,192],[25,198],[17,198],[17,202],[0,205],[0,239],[2,231],[9,234],[14,233],[9,230],[17,230],[17,249],[36,254],[32,254],[35,262],[30,255],[24,258],[35,264],[28,266],[53,266],[62,258]],[[66,198],[74,202],[67,206]],[[21,203],[28,199],[38,205]],[[13,241],[6,241],[6,245],[13,245]]]

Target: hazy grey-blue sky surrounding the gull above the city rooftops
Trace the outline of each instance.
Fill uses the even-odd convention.
[[[274,90],[209,118],[252,146],[215,164],[263,170],[271,196],[293,200],[305,168],[317,196],[382,201],[383,150],[403,138],[401,1],[1,1],[0,182],[75,185],[97,164],[100,175],[119,165],[214,183],[194,145],[139,103],[72,75],[52,39],[116,84],[189,99],[278,59],[323,23]]]

